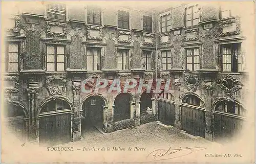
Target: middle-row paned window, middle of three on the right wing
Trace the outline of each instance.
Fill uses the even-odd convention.
[[[189,71],[196,71],[200,69],[200,57],[199,57],[199,48],[186,49],[187,57],[187,69]]]

